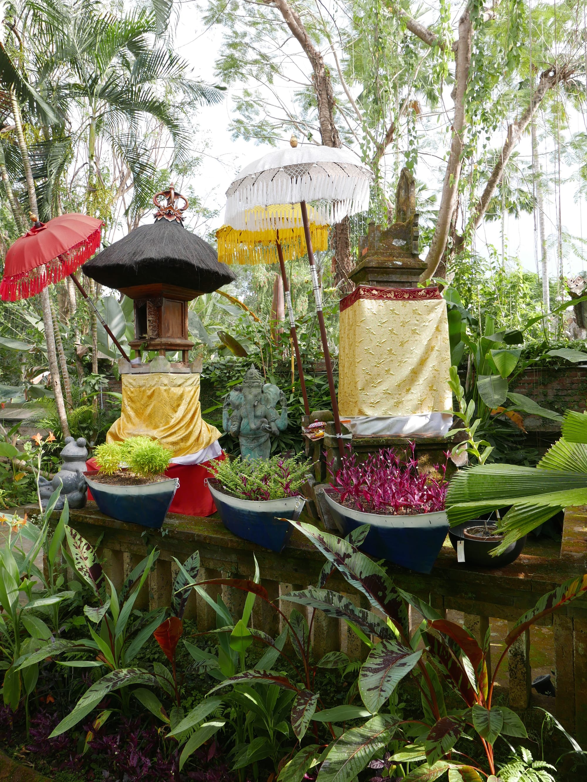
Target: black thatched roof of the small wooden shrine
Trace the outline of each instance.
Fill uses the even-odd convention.
[[[157,220],[135,228],[83,266],[84,274],[108,288],[164,282],[210,293],[234,280],[216,250],[181,223]]]

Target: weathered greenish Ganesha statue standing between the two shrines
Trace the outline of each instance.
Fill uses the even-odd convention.
[[[281,413],[275,409],[277,402]],[[243,459],[268,459],[271,435],[278,435],[288,425],[285,393],[273,383],[266,383],[251,366],[242,386],[237,386],[224,400],[222,425],[231,437],[238,437]]]

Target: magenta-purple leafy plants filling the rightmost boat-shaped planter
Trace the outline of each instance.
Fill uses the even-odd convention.
[[[399,457],[393,448],[384,448],[358,464],[355,454],[347,454],[335,474],[329,465],[330,485],[338,501],[366,513],[411,515],[443,511],[448,486],[444,479],[446,467],[437,468],[442,473],[439,479],[419,473],[415,443],[410,443],[410,448],[410,457]]]

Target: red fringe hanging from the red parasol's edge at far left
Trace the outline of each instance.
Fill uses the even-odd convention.
[[[47,285],[54,282],[60,282],[69,274],[77,271],[82,264],[92,255],[100,246],[102,239],[102,228],[96,228],[94,233],[78,242],[66,253],[54,258],[44,266],[23,271],[20,274],[13,274],[12,277],[3,278],[0,283],[0,298],[3,301],[18,301],[20,299],[29,299],[30,296],[36,296]]]

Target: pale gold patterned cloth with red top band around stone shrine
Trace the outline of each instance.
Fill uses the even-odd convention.
[[[436,289],[360,285],[340,303],[341,415],[452,410],[446,302]]]

